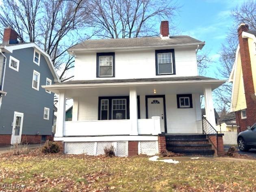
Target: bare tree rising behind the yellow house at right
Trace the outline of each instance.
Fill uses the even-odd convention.
[[[237,28],[239,24],[249,24],[250,30],[256,30],[256,2],[248,0],[241,6],[237,6],[231,13],[234,18],[234,24],[230,27],[230,33],[227,36],[225,44],[220,51],[219,62],[221,67],[218,68],[218,75],[223,79],[228,79],[235,60],[236,48],[238,46]],[[225,83],[215,91],[217,104],[220,109],[230,109],[232,93],[232,84]]]

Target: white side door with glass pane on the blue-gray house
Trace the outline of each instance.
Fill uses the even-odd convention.
[[[14,112],[11,144],[19,144],[22,135],[23,113]]]

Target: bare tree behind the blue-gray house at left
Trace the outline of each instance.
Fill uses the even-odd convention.
[[[85,0],[3,0],[0,26],[11,26],[21,42],[36,42],[50,55],[61,81],[69,80],[67,71],[74,59],[66,49],[82,39],[78,33],[87,24]]]

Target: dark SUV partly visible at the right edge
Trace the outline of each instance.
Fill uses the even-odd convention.
[[[248,151],[251,148],[256,149],[256,123],[238,134],[237,144],[240,151]]]

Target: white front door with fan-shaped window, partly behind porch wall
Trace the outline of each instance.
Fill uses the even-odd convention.
[[[148,98],[148,119],[160,116],[161,132],[165,132],[165,115],[163,97]]]

